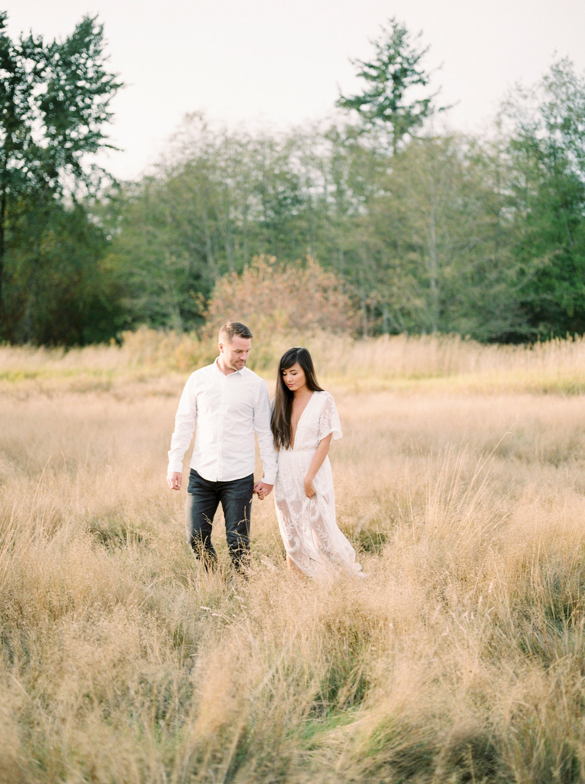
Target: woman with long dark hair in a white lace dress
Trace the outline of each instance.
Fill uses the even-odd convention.
[[[311,577],[333,566],[358,573],[356,552],[335,522],[327,456],[341,424],[305,348],[291,348],[280,360],[271,427],[279,452],[274,503],[289,568]]]

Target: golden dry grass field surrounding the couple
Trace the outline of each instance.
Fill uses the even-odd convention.
[[[0,348],[0,782],[583,781],[585,343],[312,340],[364,580],[289,574],[272,497],[249,579],[220,520],[193,560],[166,452],[213,347]]]

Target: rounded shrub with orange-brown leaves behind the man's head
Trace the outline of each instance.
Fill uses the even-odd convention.
[[[310,256],[288,266],[255,256],[241,274],[215,284],[205,331],[215,335],[226,321],[243,321],[258,335],[355,332],[357,314],[341,278]]]

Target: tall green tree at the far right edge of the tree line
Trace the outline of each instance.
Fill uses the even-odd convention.
[[[585,76],[569,60],[504,107],[515,289],[530,339],[585,332]],[[522,339],[524,335],[511,335]]]

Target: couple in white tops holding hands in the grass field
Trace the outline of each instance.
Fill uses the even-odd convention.
[[[276,517],[289,568],[310,577],[334,568],[362,575],[356,552],[335,521],[327,452],[341,438],[333,397],[317,383],[311,355],[291,348],[280,359],[270,405],[265,381],[246,367],[252,333],[238,321],[219,330],[219,356],[187,380],[168,452],[168,486],[179,490],[182,459],[195,430],[185,511],[187,541],[206,568],[217,562],[211,526],[219,503],[234,567],[250,550],[254,493],[274,488]],[[264,475],[254,481],[258,436]]]

